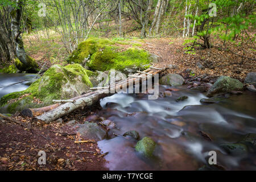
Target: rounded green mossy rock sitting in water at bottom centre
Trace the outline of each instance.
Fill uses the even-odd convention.
[[[135,149],[147,157],[151,157],[155,151],[156,143],[150,137],[144,137],[137,142]]]

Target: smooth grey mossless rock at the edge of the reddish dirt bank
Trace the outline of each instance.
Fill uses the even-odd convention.
[[[77,125],[79,129],[77,133],[81,134],[81,137],[86,139],[102,140],[106,137],[107,133],[97,123],[85,122],[84,124]]]

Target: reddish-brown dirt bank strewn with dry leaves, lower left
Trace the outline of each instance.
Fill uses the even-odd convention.
[[[15,116],[27,127],[0,120],[0,170],[108,170],[106,160],[97,142],[81,138],[75,133],[76,125],[67,125],[73,119],[83,123],[93,110],[79,110],[63,117],[63,123],[35,122],[31,118]],[[30,124],[32,123],[32,124]],[[75,141],[87,140],[87,143]],[[39,151],[46,152],[46,165],[39,165]]]

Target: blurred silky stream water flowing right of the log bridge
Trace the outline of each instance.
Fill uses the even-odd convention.
[[[160,91],[167,87],[160,86]],[[255,93],[230,96],[218,104],[202,105],[199,92],[184,87],[172,96],[148,100],[142,94],[114,94],[101,100],[100,115],[113,121],[116,129],[98,142],[110,170],[196,170],[208,164],[209,151],[217,152],[217,164],[225,169],[256,169],[256,150],[233,154],[221,144],[236,143],[246,134],[256,134]],[[176,102],[180,96],[187,101]],[[136,130],[157,143],[154,157],[135,151],[134,139],[114,137]],[[203,134],[203,135],[202,135]],[[207,137],[205,137],[207,136]],[[255,140],[254,140],[255,142]],[[255,143],[254,143],[255,144]],[[255,147],[255,146],[254,146]]]

